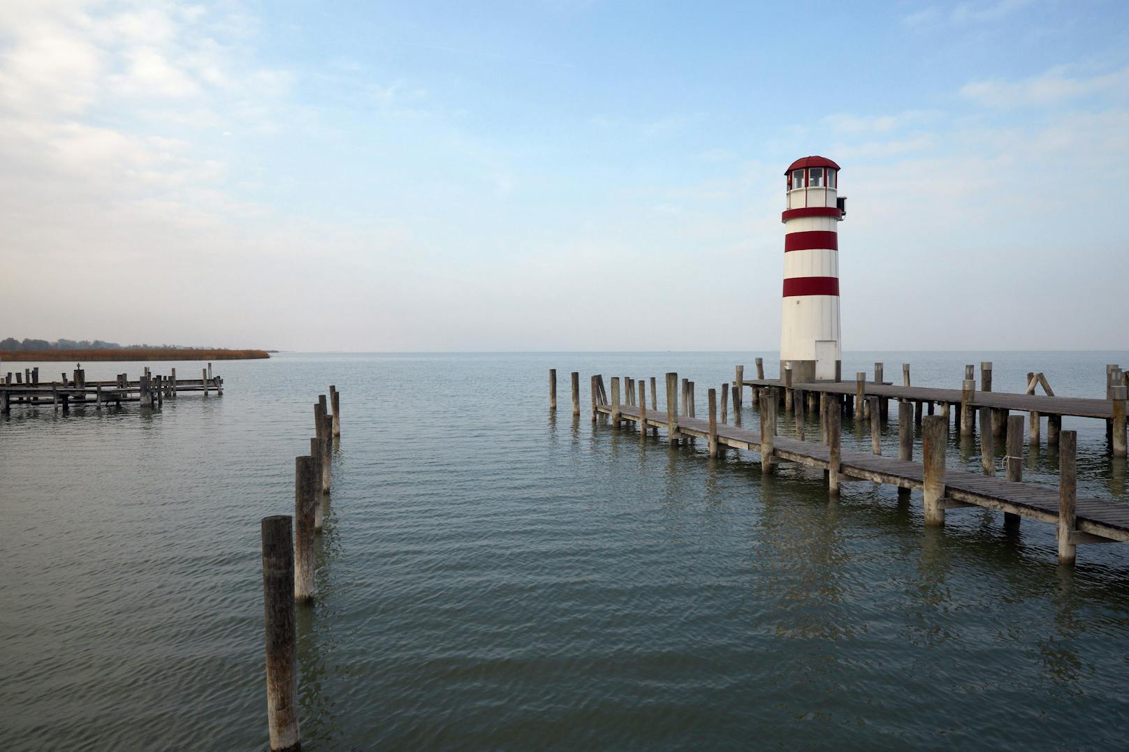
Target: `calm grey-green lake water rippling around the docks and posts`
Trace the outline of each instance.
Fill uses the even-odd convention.
[[[342,437],[318,597],[298,618],[306,749],[1123,744],[1129,546],[1079,546],[1059,568],[1050,525],[1009,539],[1000,515],[960,509],[925,530],[917,492],[899,509],[894,489],[848,483],[829,501],[819,473],[762,478],[754,456],[711,462],[704,441],[672,451],[587,414],[593,373],[662,391],[677,370],[702,416],[707,388],[758,355],[776,362],[281,355],[217,362],[225,396],[160,411],[14,408],[5,746],[266,747],[259,521],[292,514],[294,457],[331,383]],[[1042,370],[1057,394],[1104,396],[1105,364],[1129,353],[847,353],[843,373],[875,360],[948,387],[992,360],[997,391]],[[30,365],[72,367],[3,370]],[[1079,493],[1129,504],[1104,425],[1064,428],[1079,431]],[[869,449],[850,420],[843,440]],[[892,417],[885,453],[896,443]],[[1054,484],[1054,448],[1025,453],[1025,479]],[[957,437],[948,461],[979,466]]]

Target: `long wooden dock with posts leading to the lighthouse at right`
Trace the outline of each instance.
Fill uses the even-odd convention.
[[[948,418],[945,416],[928,416],[924,419],[922,462],[912,458],[913,453],[913,409],[911,399],[927,401],[945,401],[952,399],[952,392],[946,390],[928,390],[921,387],[891,387],[881,383],[867,383],[867,404],[870,406],[867,422],[870,425],[873,452],[843,452],[840,447],[840,429],[843,414],[851,414],[848,409],[848,395],[854,395],[851,385],[843,383],[815,383],[790,385],[796,391],[794,400],[789,401],[799,414],[796,417],[796,437],[778,435],[777,414],[780,404],[785,403],[785,386],[772,379],[754,379],[753,382],[736,379],[737,386],[732,392],[734,423],[726,420],[728,405],[718,402],[716,390],[709,390],[709,418],[694,416],[694,385],[682,381],[681,400],[680,384],[676,374],[666,375],[666,405],[658,408],[656,379],[650,379],[649,400],[645,381],[624,378],[624,391],[621,394],[620,378],[611,379],[611,399],[604,386],[602,376],[592,377],[592,419],[598,422],[606,417],[611,426],[633,426],[646,434],[659,430],[666,432],[672,446],[685,439],[703,439],[709,447],[710,456],[716,456],[721,447],[744,449],[759,454],[764,472],[772,472],[781,462],[794,463],[823,471],[828,482],[829,493],[838,495],[841,482],[872,481],[896,487],[900,501],[908,502],[912,490],[922,492],[922,504],[926,511],[926,524],[943,525],[945,511],[964,507],[980,507],[1004,513],[1004,524],[1015,528],[1023,518],[1049,523],[1058,526],[1059,560],[1071,563],[1075,559],[1075,548],[1086,543],[1129,542],[1129,505],[1112,499],[1077,498],[1075,458],[1076,435],[1074,431],[1062,431],[1060,436],[1060,482],[1058,488],[1040,486],[1022,480],[1022,444],[1023,418],[1009,417],[1005,429],[1007,435],[1006,454],[997,451],[995,431],[981,431],[981,452],[983,456],[983,474],[966,470],[954,470],[945,466],[944,453],[949,431]],[[572,375],[572,412],[579,414],[578,375]],[[555,409],[555,371],[550,373],[551,405]],[[743,428],[741,423],[744,387],[755,385],[759,404],[760,426],[756,430]],[[725,385],[726,387],[728,384]],[[848,391],[851,390],[851,391]],[[728,391],[723,388],[724,393]],[[819,391],[824,395],[819,412],[821,436],[817,440],[805,440],[803,411],[808,393]],[[1120,392],[1114,392],[1120,394]],[[899,457],[883,456],[881,443],[881,408],[878,400],[883,396],[899,399]],[[1021,410],[1027,404],[1022,397],[1027,395],[994,394],[980,401],[981,420],[991,421],[992,410]],[[966,397],[966,395],[965,395]],[[1045,403],[1039,397],[1038,405],[1047,410],[1060,405],[1059,414],[1082,417],[1104,417],[1101,412],[1108,404],[1087,406],[1082,403],[1101,403],[1100,400],[1067,400]],[[1053,397],[1052,397],[1053,399]],[[649,402],[649,404],[648,404]],[[680,409],[681,402],[681,409]],[[964,404],[969,401],[965,399]],[[977,403],[973,403],[977,404]],[[1112,411],[1111,411],[1112,412]],[[1096,413],[1096,414],[1095,414]],[[1114,413],[1115,414],[1115,413]],[[720,418],[720,420],[719,420]],[[960,423],[956,423],[956,428]],[[1003,448],[1003,447],[1001,447]],[[996,456],[1004,457],[1006,476],[999,478],[996,472]]]

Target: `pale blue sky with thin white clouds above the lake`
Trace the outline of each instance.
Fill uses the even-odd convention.
[[[0,0],[0,338],[1127,349],[1129,3]]]

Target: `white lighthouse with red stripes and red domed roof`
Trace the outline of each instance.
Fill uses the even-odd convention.
[[[839,165],[804,157],[785,173],[784,314],[780,320],[780,378],[791,367],[794,382],[838,379]]]

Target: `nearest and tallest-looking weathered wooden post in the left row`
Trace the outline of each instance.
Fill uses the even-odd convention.
[[[298,732],[294,605],[294,541],[290,516],[263,517],[263,615],[266,632],[266,718],[271,752],[301,749]]]

